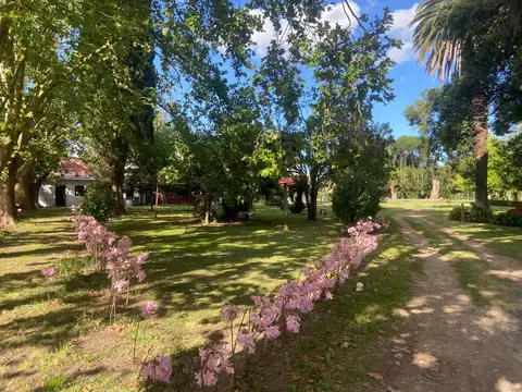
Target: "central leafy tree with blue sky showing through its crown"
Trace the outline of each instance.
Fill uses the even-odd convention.
[[[269,142],[278,142],[281,148],[269,149],[269,156],[276,166],[283,162],[286,173],[310,179],[310,220],[316,218],[321,186],[346,152],[345,142],[360,140],[373,103],[393,98],[386,77],[393,62],[386,51],[398,42],[386,35],[389,11],[372,22],[348,11],[347,19],[357,19],[360,28],[316,23],[309,26],[313,37],[285,41],[287,56],[281,40],[274,40],[257,75],[263,95],[275,102],[266,110],[268,128],[273,131]],[[306,74],[313,78],[307,85]]]

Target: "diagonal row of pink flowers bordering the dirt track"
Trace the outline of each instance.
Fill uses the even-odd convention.
[[[328,256],[303,268],[297,280],[287,281],[268,296],[253,295],[253,305],[243,310],[237,328],[234,322],[240,317],[241,308],[233,304],[223,305],[221,316],[228,324],[231,345],[228,348],[226,342],[219,341],[200,348],[197,383],[214,385],[220,375],[227,373],[234,375],[235,388],[236,345],[244,353],[253,354],[261,336],[271,340],[282,333],[298,333],[300,315],[311,311],[318,301],[333,298],[337,286],[359,268],[365,255],[377,248],[377,237],[372,233],[387,226],[388,223],[381,218],[358,221],[347,230],[348,236],[340,238]]]

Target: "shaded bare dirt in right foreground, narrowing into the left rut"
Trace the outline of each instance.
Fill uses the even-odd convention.
[[[418,247],[425,273],[408,306],[397,310],[402,321],[375,368],[383,379],[366,385],[387,392],[522,391],[520,320],[495,306],[476,307],[450,262],[402,217],[395,219]]]

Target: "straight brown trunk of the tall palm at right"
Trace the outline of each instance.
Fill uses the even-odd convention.
[[[487,100],[476,97],[472,102],[473,156],[475,158],[475,206],[488,208],[487,200]]]

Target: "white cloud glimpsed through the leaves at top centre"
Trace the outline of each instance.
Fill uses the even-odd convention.
[[[356,15],[359,16],[361,14],[361,8],[352,1],[350,1],[350,5]],[[253,14],[261,15],[261,11],[251,12]],[[349,14],[348,9],[346,10],[346,12]],[[355,17],[350,15],[350,19],[348,19],[348,16],[346,15],[345,10],[343,9],[343,3],[327,7],[321,15],[321,22],[330,22],[331,25],[338,24],[341,27],[348,27],[350,25],[355,27],[357,25],[357,20]],[[281,26],[282,32],[285,32],[286,27],[288,26],[288,22],[286,20],[283,20],[281,22]],[[254,32],[252,35],[252,41],[254,42],[252,49],[256,51],[256,54],[258,57],[265,56],[266,48],[274,39],[277,39],[277,33],[274,28],[274,25],[271,21],[264,20],[262,29]],[[283,45],[283,47],[285,47],[285,45]]]

